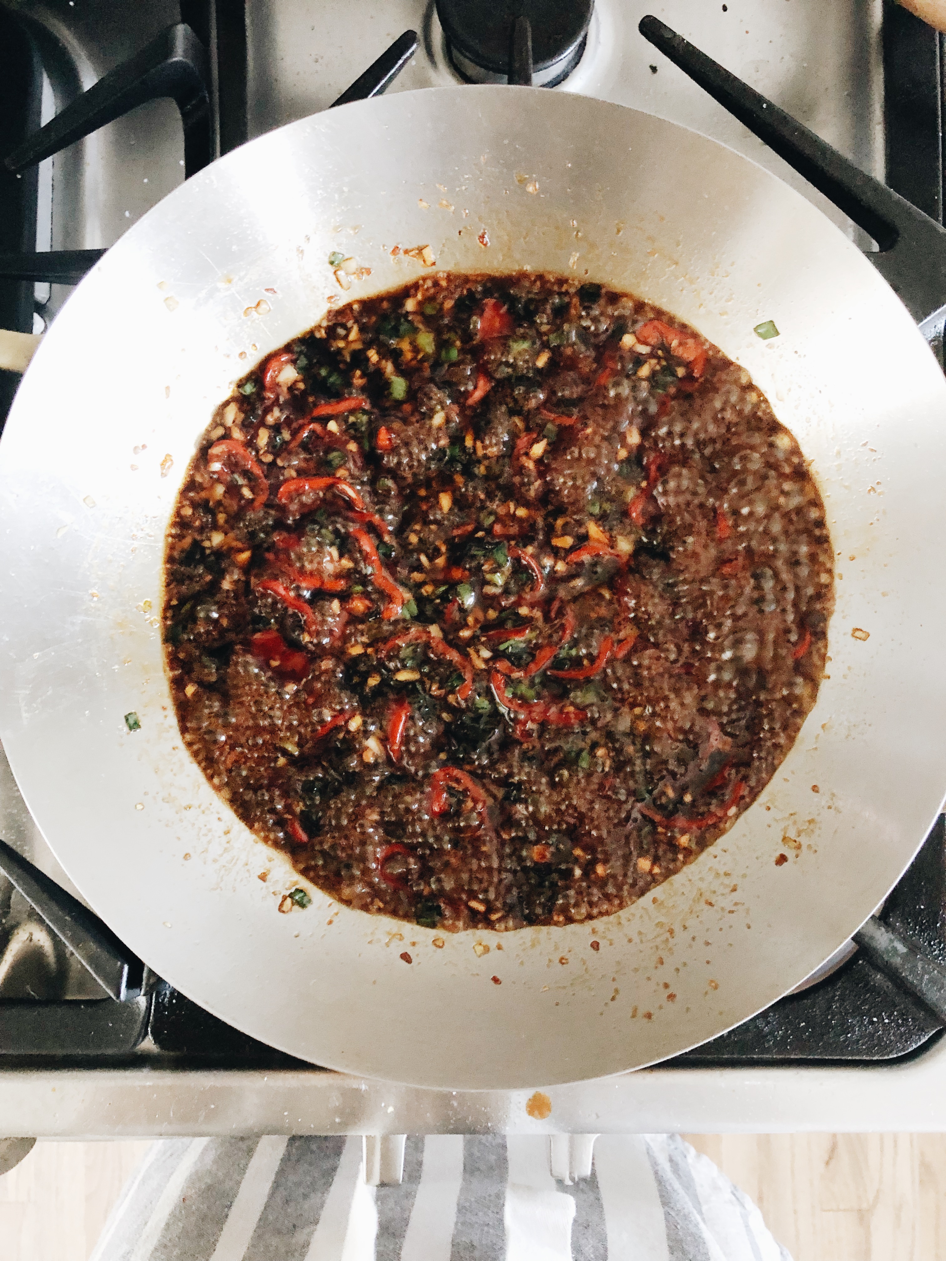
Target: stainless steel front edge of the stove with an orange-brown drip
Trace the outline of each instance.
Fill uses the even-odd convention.
[[[532,1091],[424,1091],[319,1069],[8,1071],[0,1137],[938,1132],[946,1042],[888,1067],[650,1068],[542,1093],[539,1121]]]

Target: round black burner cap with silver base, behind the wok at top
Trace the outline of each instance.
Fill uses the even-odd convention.
[[[505,82],[517,18],[532,28],[532,82],[555,87],[581,59],[594,0],[436,0],[436,15],[459,73],[474,83]]]

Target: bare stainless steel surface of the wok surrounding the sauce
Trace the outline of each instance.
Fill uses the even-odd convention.
[[[307,910],[277,913],[299,880],[182,748],[158,630],[164,528],[212,409],[329,300],[420,274],[414,246],[443,270],[603,281],[696,325],[797,435],[836,556],[817,704],[725,837],[608,919],[468,932],[441,950],[430,931],[315,889]],[[337,250],[371,269],[347,293],[328,265]],[[767,319],[781,335],[762,342],[753,327]],[[942,373],[870,264],[798,194],[703,136],[508,87],[307,119],[132,227],[24,377],[0,444],[4,747],[91,905],[256,1038],[458,1088],[666,1058],[811,972],[936,815],[945,417]]]

